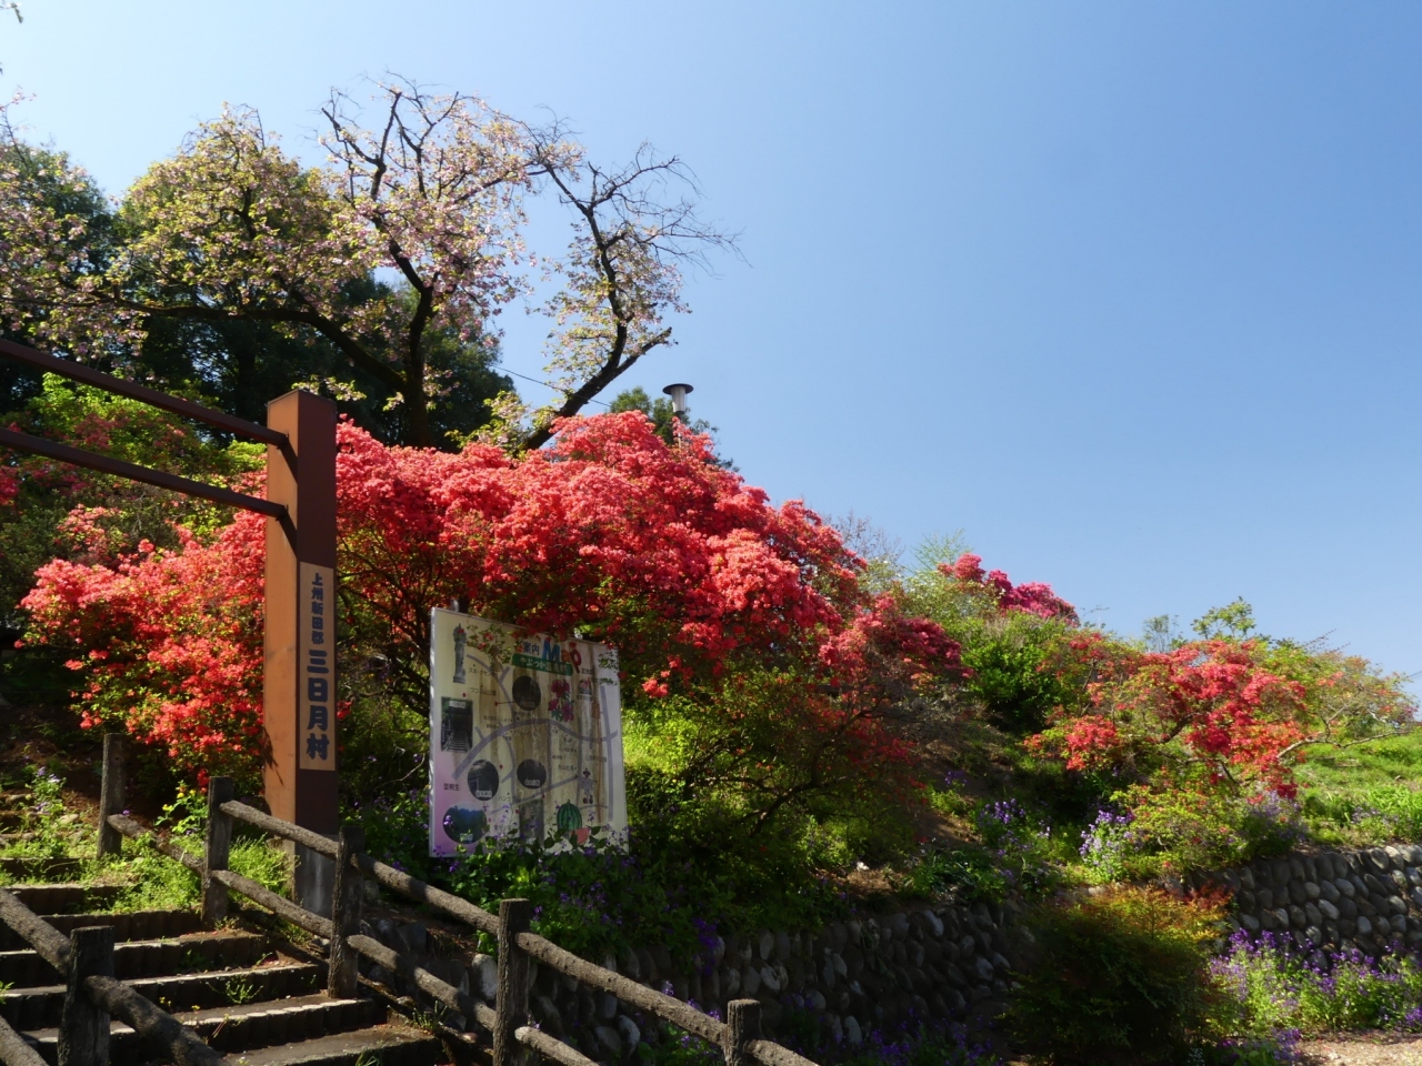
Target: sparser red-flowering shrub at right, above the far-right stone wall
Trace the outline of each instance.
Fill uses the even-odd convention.
[[[1108,863],[1132,876],[1287,850],[1304,836],[1295,769],[1310,748],[1412,728],[1402,678],[1250,635],[1247,604],[1213,611],[1196,628],[1200,640],[1165,651],[1076,630],[1055,647],[1057,674],[1075,698],[1025,741],[1030,755],[1058,760],[1132,819]],[[1098,844],[1082,854],[1088,866],[1106,861]]]

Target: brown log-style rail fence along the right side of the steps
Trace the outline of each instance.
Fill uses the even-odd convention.
[[[297,928],[313,932],[317,937],[324,937],[330,942],[327,991],[331,996],[344,999],[356,995],[358,957],[364,957],[392,974],[401,974],[431,999],[462,1015],[466,1019],[466,1025],[472,1023],[488,1032],[493,1043],[493,1066],[516,1066],[525,1057],[523,1049],[532,1049],[545,1059],[562,1063],[562,1066],[596,1066],[592,1059],[576,1048],[528,1025],[529,964],[532,961],[550,967],[559,974],[565,974],[590,988],[610,992],[624,1003],[656,1015],[688,1033],[720,1046],[725,1055],[727,1066],[751,1066],[754,1062],[764,1063],[765,1066],[816,1066],[812,1060],[792,1052],[789,1048],[761,1038],[761,1005],[757,1001],[732,1001],[727,1005],[727,1021],[717,1021],[690,1003],[640,985],[604,967],[587,962],[552,941],[539,937],[536,932],[530,932],[532,905],[528,900],[502,900],[499,903],[499,912],[492,914],[482,907],[475,907],[468,900],[435,888],[410,874],[395,870],[392,866],[371,858],[363,851],[365,843],[364,831],[356,826],[343,826],[340,836],[336,840],[330,840],[319,833],[301,829],[290,822],[274,819],[270,814],[236,802],[232,779],[213,777],[208,786],[205,854],[202,858],[198,858],[176,844],[151,834],[137,822],[119,813],[124,806],[122,793],[122,738],[111,733],[104,738],[104,779],[98,824],[101,856],[117,854],[122,837],[135,840],[146,839],[159,851],[182,863],[202,878],[202,917],[203,922],[209,927],[226,915],[228,893],[235,891]],[[237,822],[282,837],[283,840],[303,844],[311,851],[334,860],[336,884],[330,918],[323,918],[299,907],[256,881],[228,868],[232,830]],[[363,881],[365,877],[400,895],[424,904],[432,911],[495,937],[498,941],[499,967],[495,1006],[491,1008],[488,1003],[474,999],[466,992],[419,967],[414,958],[392,951],[380,941],[361,934]],[[14,901],[14,905],[20,907],[18,901]],[[40,949],[36,940],[30,938],[24,930],[11,922],[10,910],[9,904],[0,898],[0,918],[6,924],[10,924],[11,928],[20,931],[21,935],[26,935]],[[21,910],[24,908],[21,907]],[[30,917],[33,918],[34,915]],[[36,921],[38,920],[36,918]],[[50,932],[63,940],[63,934],[54,930],[50,930]],[[90,931],[77,930],[74,935],[80,932]],[[109,941],[112,941],[111,931]],[[54,954],[57,942],[50,944],[48,951],[53,954],[53,958],[51,955],[46,955],[46,958],[60,965],[60,955]],[[44,949],[41,949],[41,954],[44,954]],[[77,949],[74,951],[74,958],[78,958]],[[63,961],[67,964],[68,957]],[[112,978],[85,978],[85,981],[107,981],[108,984],[104,984],[102,988],[108,989],[105,992],[108,996],[105,1005],[111,1005],[109,1012],[134,1025],[139,1032],[145,1032],[132,1021],[138,1015],[131,1006],[125,1005],[128,1001],[125,999],[121,1003],[114,995],[111,986],[121,986],[119,982],[115,982]],[[71,978],[73,988],[74,981]],[[90,988],[90,995],[92,995],[92,988],[88,984],[85,984],[85,988]],[[138,996],[132,989],[125,991],[129,996]],[[144,1002],[146,1003],[146,1001]],[[148,1006],[151,1008],[152,1005]],[[152,1011],[158,1012],[156,1008],[152,1008]],[[65,1006],[65,1018],[68,1018],[67,1012],[68,1006]],[[164,1015],[164,1018],[181,1028],[176,1019],[168,1018],[168,1015]],[[161,1023],[165,1033],[171,1033],[168,1022]],[[156,1033],[158,1025],[159,1022],[154,1022],[149,1029]],[[107,1019],[104,1033],[107,1038]],[[179,1035],[172,1033],[171,1043],[172,1057],[179,1066],[212,1066],[213,1060],[220,1060],[216,1052],[202,1045],[189,1030],[183,1029],[182,1033],[185,1035],[182,1039]],[[34,1066],[30,1060],[11,1059],[6,1053],[4,1040],[6,1036],[0,1032],[0,1057],[4,1059],[7,1066]],[[193,1042],[209,1057],[193,1057],[193,1049],[191,1048]],[[61,1063],[61,1066],[68,1065]],[[75,1063],[74,1066],[90,1065]]]

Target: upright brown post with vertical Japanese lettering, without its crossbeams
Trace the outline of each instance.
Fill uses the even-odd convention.
[[[267,405],[266,671],[262,716],[272,814],[317,833],[340,822],[336,753],[336,404],[287,392]],[[334,867],[296,847],[297,903],[330,915]]]

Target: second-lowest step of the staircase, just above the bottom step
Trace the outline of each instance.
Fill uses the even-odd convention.
[[[189,1011],[178,1018],[216,1050],[232,1053],[368,1029],[384,1023],[385,1009],[373,999],[328,999],[317,994]],[[58,1029],[33,1029],[26,1036],[47,1062],[58,1062]],[[109,1066],[141,1066],[151,1060],[149,1052],[138,1033],[122,1022],[111,1022]]]

